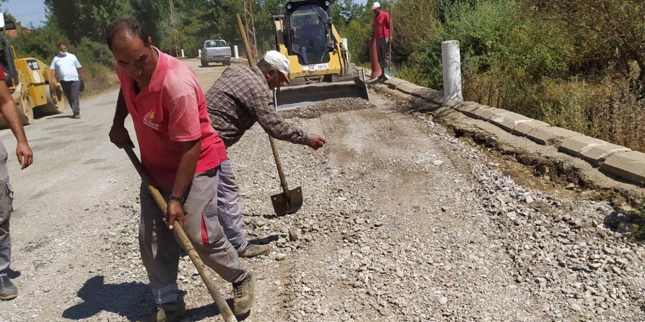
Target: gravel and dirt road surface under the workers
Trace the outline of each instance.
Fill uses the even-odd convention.
[[[223,70],[186,63],[205,89]],[[139,180],[107,137],[116,96],[82,100],[81,120],[36,120],[34,165],[10,158],[20,295],[0,303],[1,322],[132,321],[152,308]],[[352,110],[290,118],[326,147],[279,142],[290,186],[303,187],[297,214],[273,216],[261,128],[229,151],[248,234],[273,246],[248,260],[260,280],[246,321],[645,321],[645,249],[612,228],[606,203],[517,185],[401,102],[326,104]],[[11,155],[11,134],[0,137]],[[221,321],[187,256],[179,283],[183,321]]]

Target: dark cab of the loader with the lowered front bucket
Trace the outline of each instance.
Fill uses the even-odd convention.
[[[329,62],[335,48],[330,1],[290,1],[285,9],[283,37],[289,55],[302,65]]]

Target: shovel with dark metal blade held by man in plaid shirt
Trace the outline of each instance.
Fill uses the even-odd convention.
[[[253,57],[251,55],[251,48],[248,45],[248,39],[246,38],[246,32],[244,32],[244,27],[242,26],[242,19],[239,14],[236,14],[237,18],[237,28],[240,32],[240,37],[244,44],[244,50],[246,51],[246,57]],[[248,59],[248,65],[253,68],[253,59]],[[273,104],[277,108],[277,96],[275,91],[273,91]],[[273,211],[278,216],[284,216],[285,214],[295,214],[303,206],[303,189],[297,187],[295,189],[289,190],[289,185],[286,184],[286,178],[284,178],[284,172],[282,169],[282,162],[280,162],[280,156],[278,155],[278,149],[275,146],[275,140],[269,135],[269,143],[271,144],[271,151],[273,151],[273,158],[275,158],[275,166],[278,168],[278,174],[280,175],[280,185],[283,188],[283,192],[279,194],[273,194],[271,196],[271,202],[273,204]]]

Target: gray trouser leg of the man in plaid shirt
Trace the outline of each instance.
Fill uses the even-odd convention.
[[[224,229],[224,234],[237,254],[244,252],[248,247],[242,206],[240,204],[239,189],[235,182],[235,173],[231,161],[226,160],[219,164],[219,183],[217,184],[217,218]]]

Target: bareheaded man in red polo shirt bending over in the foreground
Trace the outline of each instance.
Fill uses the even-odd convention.
[[[155,299],[155,312],[142,321],[179,321],[184,311],[177,290],[179,243],[175,220],[211,269],[233,283],[233,313],[244,315],[254,300],[255,277],[228,242],[217,215],[220,164],[227,159],[212,128],[197,75],[152,45],[143,26],[119,19],[106,29],[117,61],[121,91],[110,140],[132,144],[124,120],[132,116],[143,166],[168,202],[168,225],[154,198],[141,185],[139,247]]]

